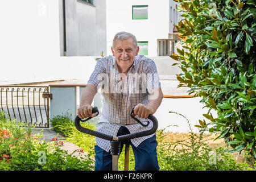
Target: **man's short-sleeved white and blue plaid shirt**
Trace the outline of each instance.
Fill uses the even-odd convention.
[[[130,111],[139,103],[147,105],[152,89],[160,88],[159,76],[154,61],[145,56],[135,57],[127,77],[121,80],[114,56],[102,57],[97,61],[96,67],[89,78],[88,84],[101,88],[103,108],[96,131],[116,136],[119,127],[125,126],[130,133],[137,133],[152,128],[152,122],[147,127],[137,123],[130,117]],[[137,117],[138,118],[138,117]],[[142,123],[148,119],[138,118]],[[138,147],[145,139],[152,137],[131,139],[134,146]],[[110,150],[110,141],[97,138],[96,143],[105,151]]]

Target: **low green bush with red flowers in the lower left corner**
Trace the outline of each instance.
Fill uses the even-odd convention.
[[[93,160],[61,150],[61,140],[40,140],[42,132],[0,113],[0,171],[92,170]],[[74,151],[76,152],[76,151]],[[74,153],[73,152],[73,153]]]

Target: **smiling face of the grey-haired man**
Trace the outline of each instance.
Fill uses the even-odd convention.
[[[115,47],[111,49],[122,72],[128,71],[139,52],[139,47],[135,48],[134,46],[133,38],[127,40],[115,39]]]

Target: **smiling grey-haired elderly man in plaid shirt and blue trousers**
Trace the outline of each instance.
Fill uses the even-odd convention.
[[[77,113],[80,118],[94,117],[92,101],[101,88],[103,100],[102,117],[96,131],[119,136],[149,130],[152,123],[143,127],[130,117],[134,114],[142,122],[154,114],[163,99],[158,72],[154,61],[138,55],[139,47],[133,34],[118,32],[113,39],[113,56],[102,57],[82,92]],[[156,135],[127,141],[133,147],[135,170],[159,170],[156,154]],[[96,137],[95,170],[112,170],[110,141]]]

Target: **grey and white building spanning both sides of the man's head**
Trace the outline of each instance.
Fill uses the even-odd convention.
[[[139,54],[169,56],[179,46],[174,24],[180,21],[174,0],[59,0],[60,55],[112,55],[119,31],[137,37]]]

